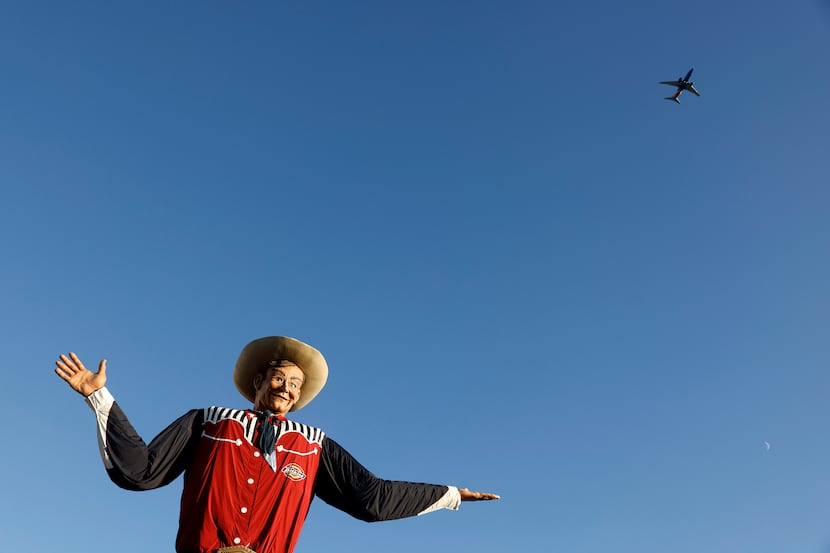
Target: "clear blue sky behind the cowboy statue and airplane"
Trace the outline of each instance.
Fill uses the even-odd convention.
[[[11,549],[173,550],[60,353],[150,439],[283,334],[297,420],[502,495],[315,502],[298,553],[830,551],[827,2],[33,1],[0,47]]]

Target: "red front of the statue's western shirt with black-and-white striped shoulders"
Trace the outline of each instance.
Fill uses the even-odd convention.
[[[283,417],[272,421],[278,425],[275,469],[255,445],[256,413],[205,410],[184,479],[178,551],[294,549],[314,497],[323,432]]]

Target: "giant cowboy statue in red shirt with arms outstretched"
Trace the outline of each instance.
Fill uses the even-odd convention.
[[[184,473],[178,553],[291,553],[315,495],[365,521],[499,498],[383,480],[319,428],[287,419],[328,377],[323,355],[293,338],[260,338],[239,355],[233,380],[251,409],[192,409],[149,444],[105,387],[106,370],[106,360],[93,373],[70,353],[56,361],[55,373],[95,413],[101,458],[116,485],[150,490]]]

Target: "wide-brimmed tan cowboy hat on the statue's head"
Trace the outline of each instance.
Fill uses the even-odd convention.
[[[254,377],[268,368],[271,361],[291,361],[303,371],[305,381],[300,399],[291,408],[302,409],[326,385],[329,366],[315,348],[287,336],[266,336],[250,342],[242,349],[233,369],[233,383],[242,396],[254,402]]]

